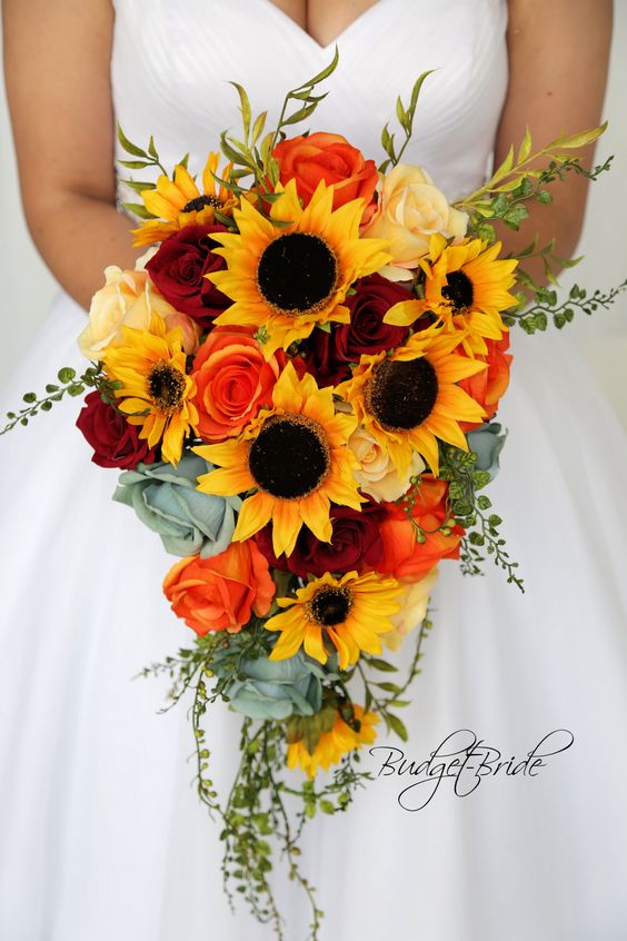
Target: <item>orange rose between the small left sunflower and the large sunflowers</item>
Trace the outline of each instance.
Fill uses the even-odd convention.
[[[238,435],[262,405],[271,405],[280,372],[277,356],[265,359],[243,327],[212,330],[196,355],[191,374],[200,437],[223,442]]]

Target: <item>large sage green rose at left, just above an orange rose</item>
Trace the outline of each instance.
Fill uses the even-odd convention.
[[[209,558],[231,543],[239,497],[202,494],[197,478],[213,469],[202,457],[185,454],[178,467],[165,462],[138,464],[120,475],[113,499],[135,509],[142,523],[159,533],[172,555]]]

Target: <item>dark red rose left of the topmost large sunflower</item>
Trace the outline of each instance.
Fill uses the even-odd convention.
[[[186,226],[167,238],[146,265],[166,300],[205,327],[231,305],[205,277],[226,267],[225,259],[213,254],[219,246],[211,238],[211,232],[226,231],[225,226]]]

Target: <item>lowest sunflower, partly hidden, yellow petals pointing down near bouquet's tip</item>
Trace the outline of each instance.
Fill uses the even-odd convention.
[[[329,721],[326,722],[329,727],[320,733],[311,749],[308,747],[306,736],[290,741],[288,735],[288,767],[300,767],[311,779],[316,776],[319,767],[328,771],[331,764],[338,764],[341,756],[354,749],[371,745],[377,737],[374,726],[380,721],[379,716],[375,712],[364,712],[362,706],[357,703],[352,703],[352,711],[359,724],[358,732],[344,721],[339,710],[332,709],[329,710]]]

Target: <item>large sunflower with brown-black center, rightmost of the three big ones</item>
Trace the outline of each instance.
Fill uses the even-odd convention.
[[[468,450],[459,422],[480,422],[485,410],[456,385],[487,368],[455,353],[465,331],[434,325],[420,330],[390,356],[361,356],[342,395],[360,424],[389,453],[399,476],[418,452],[432,473],[439,469],[438,438]],[[472,415],[475,417],[469,418]]]

